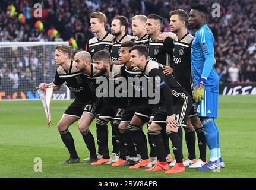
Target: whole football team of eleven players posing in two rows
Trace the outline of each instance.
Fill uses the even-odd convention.
[[[55,46],[54,60],[59,66],[55,79],[49,84],[40,83],[39,89],[56,85],[52,91],[58,90],[65,83],[76,96],[57,125],[69,151],[69,159],[60,164],[80,162],[68,130],[79,119],[78,128],[90,152],[84,165],[144,167],[148,172],[165,171],[167,174],[184,173],[185,167],[198,171],[220,171],[225,167],[220,154],[219,129],[214,121],[219,102],[219,76],[214,69],[214,37],[206,24],[207,8],[197,4],[192,5],[189,15],[181,9],[169,14],[172,33],[163,34],[162,40],[157,40],[163,26],[159,15],[132,17],[134,36],[129,36],[125,33],[127,18],[115,16],[109,34],[105,30],[106,15],[93,12],[90,24],[96,36],[89,40],[87,51],[75,53],[73,61],[71,46]],[[188,32],[188,23],[197,30],[195,37]],[[134,77],[140,80],[131,81]],[[146,82],[150,84],[147,87]],[[144,90],[138,90],[137,96],[133,96],[134,86]],[[155,99],[148,91],[154,92]],[[132,96],[127,97],[128,93]],[[48,96],[45,99],[49,102]],[[45,110],[49,119],[47,106]],[[94,118],[97,118],[97,151],[89,129]],[[111,155],[109,122],[112,125]],[[147,124],[148,138],[142,130],[144,124]],[[189,153],[187,159],[182,153],[182,128]],[[195,134],[200,150],[198,159]]]

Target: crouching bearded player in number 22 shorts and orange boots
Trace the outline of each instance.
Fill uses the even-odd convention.
[[[101,124],[107,124],[109,119],[113,119],[113,129],[116,134],[116,144],[120,152],[118,164],[128,164],[125,156],[124,141],[122,140],[122,134],[118,129],[118,125],[121,121],[122,115],[124,114],[125,107],[127,106],[127,99],[125,97],[116,97],[116,87],[119,87],[119,83],[116,81],[120,80],[122,65],[111,64],[111,56],[109,52],[101,50],[93,55],[94,67],[97,75],[105,77],[103,83],[97,88],[97,97],[103,96],[104,106],[100,111],[99,121]],[[102,81],[99,81],[100,83]],[[106,83],[104,83],[106,82]],[[126,89],[126,88],[125,88]],[[100,92],[98,91],[100,90]],[[122,90],[122,88],[121,88]],[[126,94],[126,91],[122,95]],[[113,96],[112,96],[113,95]],[[127,131],[128,132],[128,131]],[[108,149],[108,127],[105,125],[97,126],[97,142],[100,150],[102,150],[103,157],[97,162],[91,163],[92,165],[99,164],[110,164],[109,149]],[[112,166],[115,166],[113,163]]]

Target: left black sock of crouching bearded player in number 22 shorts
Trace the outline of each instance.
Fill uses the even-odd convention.
[[[96,121],[97,144],[99,145],[99,150],[103,155],[103,159],[109,159],[107,124],[108,122],[100,118]]]

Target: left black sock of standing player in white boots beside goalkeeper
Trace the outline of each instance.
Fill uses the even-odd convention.
[[[184,128],[185,129],[185,140],[188,148],[188,159],[195,159],[195,129],[194,128]]]

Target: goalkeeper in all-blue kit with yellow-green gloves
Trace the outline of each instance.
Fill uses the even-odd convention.
[[[216,170],[224,167],[220,156],[219,130],[217,118],[219,102],[219,77],[214,68],[214,37],[206,24],[207,8],[193,5],[189,14],[189,25],[194,27],[194,40],[191,45],[191,68],[194,77],[193,98],[197,102],[198,117],[204,125],[206,142],[210,149],[210,162],[198,170]]]

